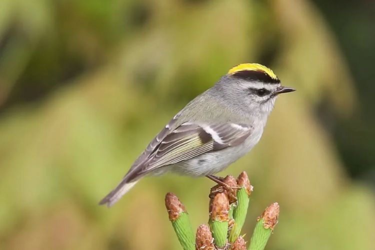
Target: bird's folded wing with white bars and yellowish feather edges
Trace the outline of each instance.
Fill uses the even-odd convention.
[[[185,122],[164,136],[143,161],[136,175],[143,175],[205,152],[238,145],[250,135],[251,130],[251,125],[246,124]]]

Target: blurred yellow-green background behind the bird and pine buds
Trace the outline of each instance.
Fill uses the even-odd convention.
[[[0,249],[179,249],[175,192],[207,221],[206,178],[145,178],[98,206],[188,100],[242,62],[298,91],[220,173],[254,186],[268,249],[375,249],[372,0],[0,0]]]

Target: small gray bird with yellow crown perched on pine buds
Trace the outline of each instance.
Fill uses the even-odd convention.
[[[281,86],[273,71],[257,63],[231,68],[195,97],[156,135],[121,182],[99,204],[113,205],[143,176],[167,171],[207,176],[226,168],[259,141]]]

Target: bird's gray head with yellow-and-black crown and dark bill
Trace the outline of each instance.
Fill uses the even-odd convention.
[[[273,71],[257,63],[231,68],[212,88],[231,107],[250,115],[268,115],[278,94],[294,91],[281,85]]]

